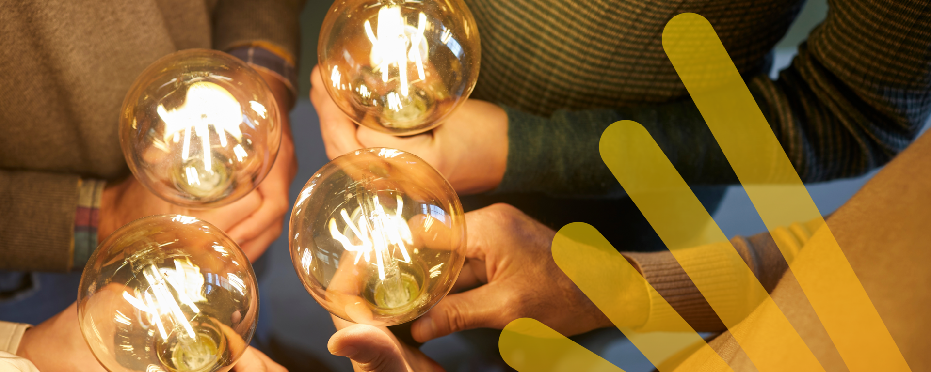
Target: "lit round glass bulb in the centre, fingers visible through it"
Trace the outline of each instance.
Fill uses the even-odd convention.
[[[372,148],[333,159],[307,181],[290,219],[304,288],[350,322],[395,326],[430,310],[465,260],[466,221],[426,162]]]

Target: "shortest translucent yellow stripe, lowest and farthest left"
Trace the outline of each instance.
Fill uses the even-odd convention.
[[[498,349],[520,372],[624,372],[543,323],[519,318],[505,326]]]

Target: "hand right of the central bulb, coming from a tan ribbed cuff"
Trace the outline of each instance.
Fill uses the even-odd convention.
[[[413,339],[503,329],[524,317],[566,336],[612,325],[556,265],[550,251],[556,233],[545,225],[505,204],[466,213],[466,224],[467,260],[453,290],[478,287],[439,301],[414,321]]]

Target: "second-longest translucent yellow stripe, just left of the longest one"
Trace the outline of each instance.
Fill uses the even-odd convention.
[[[824,370],[643,126],[629,120],[609,126],[601,134],[600,152],[601,160],[757,369],[761,372]],[[695,231],[703,233],[695,235],[692,233]],[[687,253],[685,248],[693,246],[716,249],[713,257],[727,258],[731,262],[738,272],[734,277],[736,290],[722,290],[714,275],[705,274],[705,261],[683,255]],[[769,313],[775,316],[757,327],[738,326],[757,304],[771,309]],[[760,333],[767,337],[756,337]],[[773,352],[774,348],[786,352]],[[784,358],[780,354],[795,357]]]

